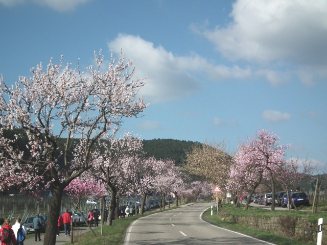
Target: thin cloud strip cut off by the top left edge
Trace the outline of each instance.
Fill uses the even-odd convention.
[[[0,0],[0,4],[3,4],[7,7],[13,7],[17,4],[29,3],[33,2],[35,4],[48,6],[55,11],[58,12],[65,12],[65,11],[72,11],[76,8],[76,6],[80,4],[85,4],[93,0]]]

